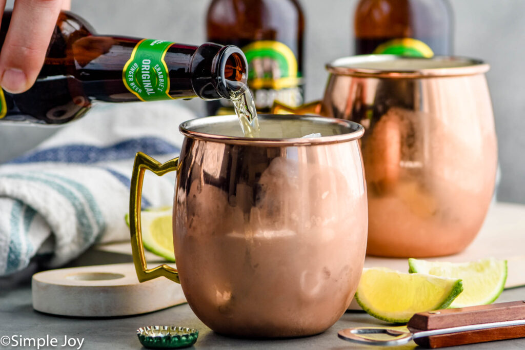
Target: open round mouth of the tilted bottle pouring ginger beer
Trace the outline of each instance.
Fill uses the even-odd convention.
[[[220,49],[217,61],[220,74],[217,77],[217,92],[230,99],[230,93],[243,89],[248,81],[248,62],[243,51],[234,45]]]

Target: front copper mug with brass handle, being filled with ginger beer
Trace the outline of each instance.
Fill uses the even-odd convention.
[[[235,115],[187,121],[181,154],[164,164],[138,153],[131,181],[133,260],[141,282],[181,283],[212,330],[243,337],[323,332],[344,313],[363,268],[366,187],[361,125],[314,116],[259,115],[261,137]],[[300,138],[321,133],[322,137]],[[271,135],[271,137],[265,137]],[[148,269],[140,207],[144,172],[176,171],[176,269]]]

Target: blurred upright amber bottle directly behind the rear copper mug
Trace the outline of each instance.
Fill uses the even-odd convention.
[[[451,55],[448,0],[360,0],[354,14],[355,55]]]

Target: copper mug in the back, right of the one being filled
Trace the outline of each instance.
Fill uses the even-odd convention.
[[[495,186],[497,143],[484,73],[459,57],[364,55],[327,65],[324,98],[299,109],[365,127],[367,253],[435,257],[476,237]]]

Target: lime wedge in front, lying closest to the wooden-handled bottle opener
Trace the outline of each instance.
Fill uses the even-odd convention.
[[[461,291],[459,279],[371,268],[363,269],[355,300],[377,319],[405,323],[417,312],[445,309]]]

